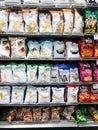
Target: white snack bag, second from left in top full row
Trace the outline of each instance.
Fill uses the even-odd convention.
[[[9,32],[24,32],[23,15],[21,12],[10,12]]]

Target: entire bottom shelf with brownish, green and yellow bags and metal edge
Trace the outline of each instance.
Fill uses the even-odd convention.
[[[0,128],[93,126],[98,126],[98,106],[0,108]]]

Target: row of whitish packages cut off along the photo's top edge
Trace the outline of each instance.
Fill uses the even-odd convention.
[[[65,2],[64,2],[65,1]],[[50,8],[97,8],[98,1],[89,3],[88,0],[1,0],[0,8],[34,8],[50,9]]]

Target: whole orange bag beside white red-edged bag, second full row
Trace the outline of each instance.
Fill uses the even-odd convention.
[[[94,50],[94,40],[91,38],[83,38],[80,43],[80,53],[81,57],[92,57]]]

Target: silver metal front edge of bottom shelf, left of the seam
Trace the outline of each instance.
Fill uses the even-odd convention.
[[[48,121],[48,122],[29,122],[13,121],[8,123],[7,121],[0,122],[0,128],[61,128],[61,127],[77,127],[74,121]]]

